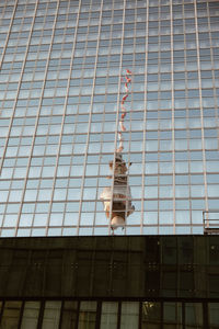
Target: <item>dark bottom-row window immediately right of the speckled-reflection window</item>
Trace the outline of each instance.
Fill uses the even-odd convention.
[[[181,303],[163,303],[163,328],[165,329],[183,328]]]

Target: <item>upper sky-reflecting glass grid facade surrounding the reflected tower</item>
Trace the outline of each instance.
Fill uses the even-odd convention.
[[[219,2],[0,2],[0,225],[108,235],[122,77],[135,212],[118,234],[201,234],[219,196]]]

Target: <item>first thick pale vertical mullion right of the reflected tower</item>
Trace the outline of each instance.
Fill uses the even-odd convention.
[[[148,37],[149,37],[149,0],[146,5],[146,64],[145,64],[145,112],[143,112],[143,140],[142,140],[142,179],[141,179],[141,218],[140,218],[140,234],[143,235],[143,217],[145,217],[145,184],[146,184],[146,139],[147,139],[147,81],[148,81]],[[146,231],[147,232],[147,231]]]

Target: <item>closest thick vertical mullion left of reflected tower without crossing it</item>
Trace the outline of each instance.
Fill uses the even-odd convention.
[[[92,4],[92,1],[91,1],[91,4]],[[91,4],[90,4],[90,10],[91,10]],[[82,181],[81,181],[81,195],[80,195],[80,205],[79,205],[79,217],[78,217],[78,225],[77,225],[77,235],[79,235],[79,229],[80,229],[80,217],[81,217],[81,209],[82,209],[83,186],[84,186],[85,171],[87,171],[87,160],[88,160],[89,139],[90,139],[91,118],[92,118],[92,106],[93,106],[94,88],[95,88],[95,79],[94,79],[94,77],[96,76],[97,56],[99,56],[99,47],[100,47],[102,12],[103,12],[103,0],[101,0],[101,8],[100,8],[99,35],[97,35],[95,64],[94,64],[94,72],[93,72],[93,86],[92,86],[91,101],[90,101],[91,106],[90,106],[90,113],[89,113],[87,145],[85,145],[85,151],[84,151],[83,173],[82,173]],[[88,35],[87,35],[87,37],[88,37]]]

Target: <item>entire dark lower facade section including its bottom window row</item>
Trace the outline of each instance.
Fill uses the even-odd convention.
[[[0,329],[218,329],[218,236],[0,239]]]

